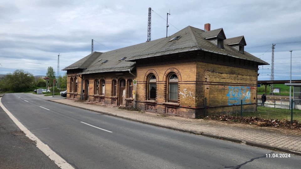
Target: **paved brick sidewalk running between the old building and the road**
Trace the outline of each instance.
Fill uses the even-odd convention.
[[[141,113],[138,111],[121,110],[114,106],[69,99],[51,101],[173,130],[301,155],[301,130],[162,116],[149,112]]]

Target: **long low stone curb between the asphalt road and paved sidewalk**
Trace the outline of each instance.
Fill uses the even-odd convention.
[[[56,102],[54,100],[49,100],[49,101],[52,101],[52,102],[55,102],[55,103],[60,103],[60,102]],[[66,103],[60,103],[60,104],[69,105],[69,104],[66,104]],[[158,125],[158,124],[155,124],[155,123],[150,123],[150,122],[141,121],[141,120],[135,120],[135,119],[131,119],[131,118],[128,118],[128,117],[123,117],[123,116],[120,116],[120,115],[114,115],[114,114],[111,114],[111,113],[106,113],[106,112],[103,112],[103,111],[86,109],[86,108],[76,106],[76,105],[69,105],[69,106],[77,107],[77,108],[84,109],[84,110],[90,110],[90,111],[94,111],[94,112],[98,112],[98,113],[102,113],[102,114],[110,115],[110,116],[114,116],[114,117],[119,117],[119,118],[122,118],[122,119],[131,120],[131,121],[135,121],[135,122],[139,122],[139,123],[153,125],[153,126],[156,126],[156,127],[162,127],[162,128],[166,128],[166,129],[175,130],[175,131],[182,131],[182,132],[185,132],[185,133],[201,135],[201,136],[211,137],[211,138],[220,139],[220,140],[232,141],[232,142],[236,142],[236,143],[245,143],[246,145],[249,145],[249,146],[255,146],[255,147],[260,147],[260,148],[265,148],[265,149],[270,149],[270,150],[275,150],[275,151],[282,151],[282,152],[291,153],[291,154],[301,156],[301,152],[293,151],[293,150],[289,150],[289,149],[285,149],[285,148],[268,146],[268,145],[264,145],[264,144],[260,144],[260,143],[251,142],[251,141],[244,141],[244,140],[234,139],[234,138],[230,138],[230,137],[223,137],[223,136],[213,135],[213,134],[204,133],[204,132],[197,132],[197,131],[179,129],[179,128],[170,127],[170,126],[166,126],[166,125]]]

